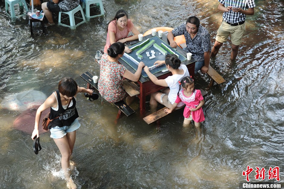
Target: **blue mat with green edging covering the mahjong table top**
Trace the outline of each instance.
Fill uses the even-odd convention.
[[[157,36],[154,36],[152,38],[150,38],[150,41],[154,40],[156,44],[158,44],[159,46],[161,46],[161,43],[165,44],[169,49],[171,49],[174,53],[178,54],[179,55],[179,59],[183,62],[186,60],[186,57],[182,56],[180,53],[178,53],[176,50],[174,50],[172,47],[170,47],[168,44],[166,44],[164,41],[162,41],[159,37]],[[137,44],[134,44],[132,46],[130,46],[129,48],[131,47],[134,47],[136,45],[139,45],[141,43],[143,43],[144,41],[141,41]],[[141,48],[143,47],[140,47],[140,48],[137,48],[135,50],[133,50],[131,53],[127,54],[129,56],[131,56],[131,58],[135,59],[136,61],[140,62],[144,62],[145,66],[148,66],[148,67],[151,67],[154,65],[154,63],[157,61],[157,60],[165,60],[165,57],[166,55],[163,55],[157,48],[155,48],[153,45],[151,45],[146,51],[144,51],[143,53],[141,53],[140,55],[143,56],[143,59],[140,60],[138,59],[138,56],[136,55],[136,52],[139,51]],[[150,59],[146,52],[149,52],[150,54],[150,57],[152,57],[152,54],[151,54],[151,51],[154,51],[155,52],[155,58],[153,59]],[[169,52],[168,52],[169,54]],[[129,66],[131,66],[134,70],[137,70],[138,66],[137,64],[131,60],[131,58],[127,58],[125,56],[121,57],[122,60],[124,60],[124,62],[126,62]],[[158,73],[162,70],[166,69],[166,65],[163,64],[162,66],[160,67],[156,67],[154,68],[153,70],[150,70],[151,73],[155,74],[155,73]],[[144,70],[142,70],[142,73],[141,73],[141,76],[142,77],[148,77],[147,74],[145,73]]]

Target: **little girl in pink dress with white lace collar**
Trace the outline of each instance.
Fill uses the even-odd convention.
[[[182,90],[180,90],[180,86],[182,86]],[[204,99],[201,91],[194,89],[194,81],[191,76],[184,77],[181,81],[179,81],[179,92],[177,94],[176,101],[173,104],[172,108],[165,109],[165,112],[167,112],[168,114],[171,113],[180,101],[186,104],[186,107],[183,111],[183,126],[189,126],[191,120],[193,120],[194,125],[196,127],[199,127],[200,122],[205,120],[202,110]]]

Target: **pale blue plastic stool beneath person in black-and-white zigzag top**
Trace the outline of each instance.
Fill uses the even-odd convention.
[[[82,18],[74,16],[75,13],[78,12],[78,11],[81,11]],[[61,13],[69,15],[70,26],[61,23]],[[75,18],[83,19],[83,21],[79,22],[78,24],[75,24]],[[65,20],[65,19],[67,19],[67,18],[63,18],[62,20]],[[76,29],[77,26],[79,26],[80,24],[83,24],[85,22],[86,22],[86,19],[85,19],[84,12],[83,12],[81,5],[79,5],[78,7],[74,8],[71,11],[59,12],[59,14],[58,14],[58,25],[65,26],[65,27],[71,28],[73,30]]]

